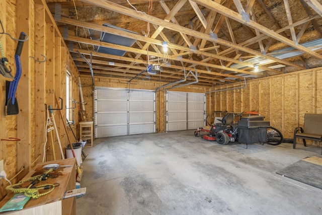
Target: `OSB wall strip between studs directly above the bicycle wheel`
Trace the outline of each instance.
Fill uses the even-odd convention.
[[[283,77],[272,77],[270,87],[270,123],[271,126],[282,130],[283,120]]]

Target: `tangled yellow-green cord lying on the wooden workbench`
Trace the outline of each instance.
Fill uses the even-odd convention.
[[[46,195],[46,194],[50,193],[51,191],[53,191],[56,185],[54,185],[54,184],[44,184],[44,185],[33,187],[34,184],[30,184],[26,188],[17,188],[17,187],[20,187],[23,183],[28,182],[28,181],[46,180],[47,177],[44,178],[43,175],[47,175],[50,172],[52,172],[52,169],[49,169],[48,171],[44,172],[43,174],[36,175],[34,177],[30,177],[30,178],[27,178],[25,180],[22,180],[22,181],[18,182],[17,184],[9,185],[9,186],[6,187],[6,190],[10,190],[10,191],[12,191],[14,193],[24,193],[25,196],[29,196],[29,197],[32,197],[32,198],[39,198],[40,196]],[[39,193],[39,190],[41,190],[41,189],[48,189],[48,191],[43,192],[43,193]]]

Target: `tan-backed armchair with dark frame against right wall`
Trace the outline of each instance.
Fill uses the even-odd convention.
[[[304,115],[304,128],[297,127],[294,129],[293,149],[295,149],[296,138],[303,140],[304,147],[306,147],[305,139],[322,142],[322,114],[306,113]]]

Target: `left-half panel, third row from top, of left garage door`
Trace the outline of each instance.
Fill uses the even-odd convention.
[[[97,114],[98,125],[121,125],[127,124],[126,113],[99,113]]]

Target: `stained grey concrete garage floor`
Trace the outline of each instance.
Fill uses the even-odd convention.
[[[321,189],[276,174],[320,148],[223,146],[193,131],[96,139],[77,215],[322,214]]]

